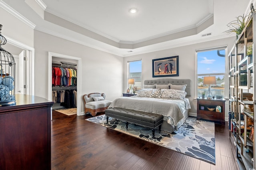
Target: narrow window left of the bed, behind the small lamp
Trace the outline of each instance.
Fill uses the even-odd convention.
[[[142,71],[142,64],[141,60],[136,60],[136,61],[128,61],[128,79],[134,79],[135,84],[127,84],[128,88],[132,89],[134,92],[137,92],[138,90],[141,89],[141,71]],[[128,80],[127,80],[128,83]]]

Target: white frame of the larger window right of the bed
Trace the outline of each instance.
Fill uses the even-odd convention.
[[[225,50],[225,72],[224,73],[210,73],[210,74],[198,74],[198,53],[204,51],[214,51],[214,50]],[[220,47],[213,47],[207,49],[198,49],[195,51],[195,74],[196,74],[196,81],[195,81],[195,98],[198,98],[198,76],[218,76],[224,75],[224,98],[228,98],[228,46],[220,46]]]

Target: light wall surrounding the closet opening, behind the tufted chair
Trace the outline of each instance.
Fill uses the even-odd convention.
[[[48,98],[48,51],[81,58],[81,94],[99,92],[106,100],[122,96],[123,58],[41,31],[34,32],[35,95]],[[51,68],[50,68],[51,69]],[[82,96],[78,96],[82,99]],[[83,103],[81,112],[83,112]]]

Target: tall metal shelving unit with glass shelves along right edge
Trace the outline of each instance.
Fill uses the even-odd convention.
[[[235,143],[238,162],[242,161],[246,170],[256,168],[256,33],[253,34],[253,28],[256,28],[255,12],[228,55],[230,141]]]

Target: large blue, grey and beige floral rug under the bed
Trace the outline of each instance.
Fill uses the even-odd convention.
[[[155,137],[153,138],[152,130],[150,128],[129,123],[128,130],[126,130],[125,122],[112,119],[112,117],[109,117],[108,124],[106,124],[105,115],[91,117],[86,120],[215,164],[213,122],[196,120],[196,118],[188,117],[184,124],[178,128],[178,131],[169,134],[163,131],[158,133],[158,130],[156,130]]]

